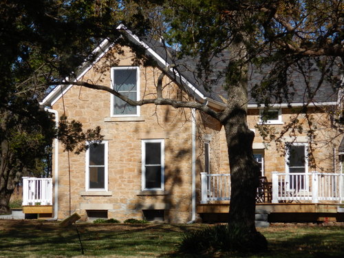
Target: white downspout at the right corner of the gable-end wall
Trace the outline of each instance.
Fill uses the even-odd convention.
[[[195,223],[196,220],[196,111],[191,109],[191,142],[192,142],[192,190],[191,190],[191,221],[188,224]]]

